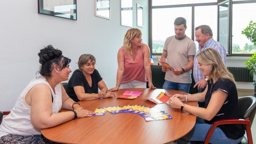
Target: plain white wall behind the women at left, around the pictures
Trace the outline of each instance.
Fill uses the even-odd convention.
[[[143,41],[148,44],[148,1],[133,0],[133,27],[137,27],[136,3],[144,7]],[[116,83],[117,52],[130,27],[120,25],[120,0],[111,0],[111,20],[94,16],[94,0],[77,1],[77,21],[38,14],[36,0],[4,1],[0,5],[0,110],[10,110],[39,69],[38,52],[49,44],[62,50],[77,69],[81,54],[97,59],[96,69],[108,88]],[[71,75],[70,75],[71,76]]]

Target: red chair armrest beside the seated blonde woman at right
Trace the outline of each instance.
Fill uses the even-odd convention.
[[[204,144],[209,143],[215,128],[218,125],[222,125],[222,124],[245,124],[245,130],[246,130],[246,133],[247,133],[248,143],[252,142],[252,133],[251,133],[251,127],[250,127],[251,121],[249,120],[249,118],[246,118],[246,119],[228,119],[228,120],[217,120],[217,121],[215,121],[211,125],[211,127],[210,127],[210,129],[209,129],[209,131],[206,135],[206,138],[204,140]],[[248,135],[249,135],[249,137],[248,137]]]

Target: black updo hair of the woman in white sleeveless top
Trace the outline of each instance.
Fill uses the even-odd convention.
[[[55,49],[52,45],[41,49],[38,56],[39,63],[42,64],[39,73],[45,78],[51,78],[53,66],[55,64],[62,70],[71,62],[71,59],[62,55],[61,50]]]

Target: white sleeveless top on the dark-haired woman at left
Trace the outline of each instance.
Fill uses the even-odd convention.
[[[55,86],[55,93],[53,92],[51,86],[46,81],[46,79],[40,74],[37,75],[29,85],[22,91],[19,98],[17,99],[14,107],[11,109],[11,113],[7,115],[0,125],[0,137],[7,134],[14,135],[33,135],[41,134],[40,129],[36,129],[31,124],[30,111],[31,107],[25,102],[25,95],[27,92],[37,84],[47,84],[52,92],[53,103],[52,103],[52,113],[58,113],[62,106],[62,94],[61,94],[61,83]]]

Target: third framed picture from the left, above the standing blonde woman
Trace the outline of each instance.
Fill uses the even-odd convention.
[[[132,0],[120,0],[121,25],[132,27]]]

